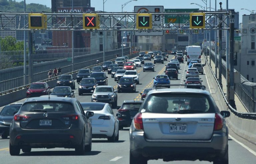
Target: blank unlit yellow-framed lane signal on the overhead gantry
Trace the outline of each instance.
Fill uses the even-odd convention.
[[[47,28],[47,16],[40,13],[28,14],[28,28],[29,29],[46,29]]]

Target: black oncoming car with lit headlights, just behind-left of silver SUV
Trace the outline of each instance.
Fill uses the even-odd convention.
[[[81,96],[83,93],[91,93],[97,86],[98,84],[95,78],[84,78],[78,88],[78,95]]]

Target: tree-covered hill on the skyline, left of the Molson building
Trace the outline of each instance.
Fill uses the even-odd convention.
[[[0,0],[0,11],[14,11],[23,12],[24,11],[24,1],[16,2],[15,0]],[[26,4],[27,12],[51,12],[51,8],[46,5],[40,5],[37,3]]]

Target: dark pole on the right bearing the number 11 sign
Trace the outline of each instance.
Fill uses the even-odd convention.
[[[229,72],[229,104],[235,108],[235,85],[234,85],[234,12],[230,16],[230,72]],[[227,61],[228,62],[228,61]]]

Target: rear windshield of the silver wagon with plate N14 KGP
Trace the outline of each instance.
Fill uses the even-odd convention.
[[[158,93],[148,95],[140,112],[150,113],[215,113],[211,99],[203,94]]]

